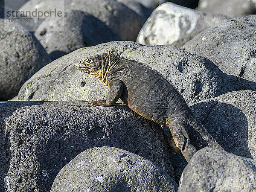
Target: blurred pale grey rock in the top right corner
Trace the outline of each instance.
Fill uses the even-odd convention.
[[[241,17],[256,13],[255,0],[199,0],[198,10]]]

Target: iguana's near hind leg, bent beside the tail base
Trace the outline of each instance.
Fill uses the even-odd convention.
[[[186,161],[189,162],[191,157],[197,151],[196,148],[190,143],[189,134],[187,131],[187,125],[185,122],[175,119],[168,123],[168,126],[172,132],[173,140],[180,149],[181,153],[185,157]]]

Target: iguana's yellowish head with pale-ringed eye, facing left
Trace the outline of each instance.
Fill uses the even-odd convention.
[[[102,55],[95,55],[86,58],[82,58],[75,65],[76,69],[81,72],[88,73],[91,76],[99,79],[103,84],[107,85],[107,71],[103,66],[103,58]]]

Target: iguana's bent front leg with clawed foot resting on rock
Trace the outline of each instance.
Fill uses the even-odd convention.
[[[88,102],[91,102],[93,105],[99,105],[99,106],[114,105],[122,95],[123,83],[119,79],[112,79],[111,81],[108,82],[108,87],[110,88],[110,91],[108,92],[108,96],[106,100],[104,98],[102,98],[102,100],[89,99]]]

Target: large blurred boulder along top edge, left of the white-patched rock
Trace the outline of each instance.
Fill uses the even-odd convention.
[[[54,11],[54,8],[58,10],[59,5],[59,0],[29,0],[19,11],[34,11],[36,8],[42,12]],[[143,18],[115,0],[69,0],[65,1],[65,10],[67,9],[81,10],[93,15],[124,40],[136,41],[143,25]],[[45,17],[41,17],[41,19],[45,19]]]

